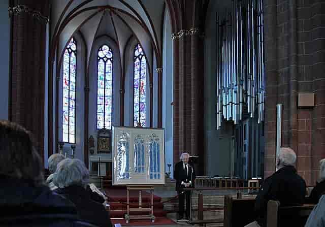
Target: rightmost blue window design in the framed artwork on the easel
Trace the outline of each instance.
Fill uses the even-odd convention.
[[[160,179],[160,145],[156,134],[149,136],[149,170],[150,179]]]

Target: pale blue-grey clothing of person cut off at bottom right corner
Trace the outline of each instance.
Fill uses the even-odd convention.
[[[308,216],[305,227],[325,227],[325,195],[322,194],[319,202]]]

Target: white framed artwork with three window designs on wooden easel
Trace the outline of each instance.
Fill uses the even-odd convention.
[[[165,184],[164,129],[113,126],[113,185]]]

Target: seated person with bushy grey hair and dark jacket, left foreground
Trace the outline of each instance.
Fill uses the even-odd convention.
[[[54,191],[76,205],[79,219],[110,227],[112,223],[108,211],[103,204],[93,201],[91,193],[86,189],[89,178],[89,171],[81,160],[66,158],[57,165],[53,183],[58,188]]]

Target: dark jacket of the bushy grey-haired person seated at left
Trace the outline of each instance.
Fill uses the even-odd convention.
[[[80,220],[101,226],[111,227],[112,223],[108,211],[103,204],[91,199],[91,192],[81,186],[69,186],[54,190],[75,204]]]

